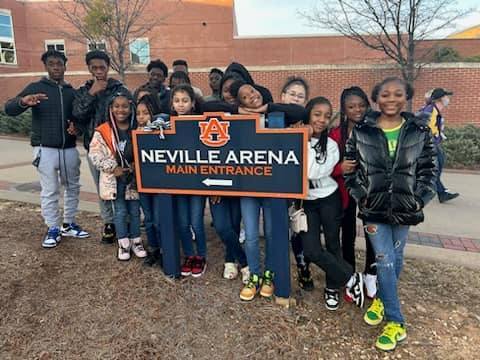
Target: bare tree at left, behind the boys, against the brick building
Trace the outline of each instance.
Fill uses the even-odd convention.
[[[110,55],[112,68],[125,80],[125,72],[132,65],[129,44],[144,36],[168,16],[147,14],[145,9],[149,3],[150,0],[59,1],[55,12],[76,30],[60,32],[65,38],[83,44],[105,42],[105,51]]]

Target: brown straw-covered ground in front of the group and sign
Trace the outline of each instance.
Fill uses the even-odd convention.
[[[240,280],[221,278],[223,248],[210,226],[206,274],[171,282],[138,259],[118,262],[115,247],[98,241],[96,214],[78,219],[94,236],[44,250],[39,208],[0,201],[0,359],[478,358],[478,272],[408,260],[400,295],[409,337],[384,354],[362,311],[325,309],[316,268],[313,292],[293,281],[293,308],[242,303]]]

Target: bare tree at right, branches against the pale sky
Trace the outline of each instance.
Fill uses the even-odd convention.
[[[315,27],[383,52],[413,85],[435,49],[422,41],[470,11],[456,5],[455,0],[319,0],[300,15]]]

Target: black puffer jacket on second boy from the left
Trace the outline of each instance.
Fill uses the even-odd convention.
[[[75,100],[73,101],[73,116],[82,124],[84,131],[83,145],[88,150],[90,141],[92,140],[95,128],[107,121],[108,102],[116,93],[127,92],[128,89],[118,80],[109,78],[107,88],[95,96],[88,93],[93,85],[93,80],[88,80],[85,85],[77,90]],[[130,95],[131,96],[131,95]]]

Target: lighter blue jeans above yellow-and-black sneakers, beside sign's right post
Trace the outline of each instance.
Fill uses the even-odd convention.
[[[240,199],[243,224],[245,225],[245,253],[251,274],[261,275],[260,267],[260,242],[258,238],[258,225],[260,208],[263,208],[265,222],[265,270],[272,270],[272,216],[270,199],[243,197]]]

